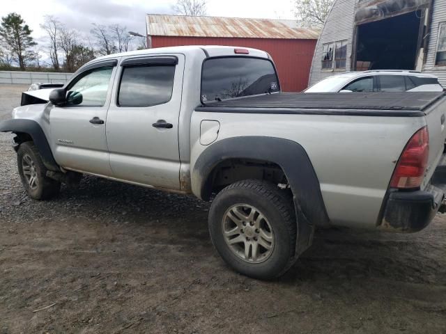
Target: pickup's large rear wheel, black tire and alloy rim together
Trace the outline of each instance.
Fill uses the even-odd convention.
[[[274,184],[244,180],[217,194],[209,212],[210,239],[229,267],[261,280],[291,267],[297,224],[292,201],[283,192]]]

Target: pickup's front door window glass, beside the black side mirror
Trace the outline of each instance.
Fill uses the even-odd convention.
[[[113,67],[100,67],[80,74],[80,79],[68,89],[66,105],[104,106],[112,72]]]

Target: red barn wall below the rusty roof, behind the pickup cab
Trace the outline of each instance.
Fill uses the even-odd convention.
[[[316,40],[152,36],[152,47],[179,45],[227,45],[267,51],[275,61],[282,90],[298,92],[307,88]]]

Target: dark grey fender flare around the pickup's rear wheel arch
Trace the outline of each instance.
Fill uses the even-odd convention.
[[[311,246],[314,226],[329,225],[318,177],[307,152],[299,143],[263,136],[217,141],[201,153],[192,170],[192,192],[196,196],[203,200],[210,198],[214,168],[226,159],[256,159],[282,168],[293,192],[298,217],[297,255]]]

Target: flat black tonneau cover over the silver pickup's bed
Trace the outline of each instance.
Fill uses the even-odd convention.
[[[443,96],[443,92],[277,93],[210,102],[197,111],[407,117],[423,116]]]

